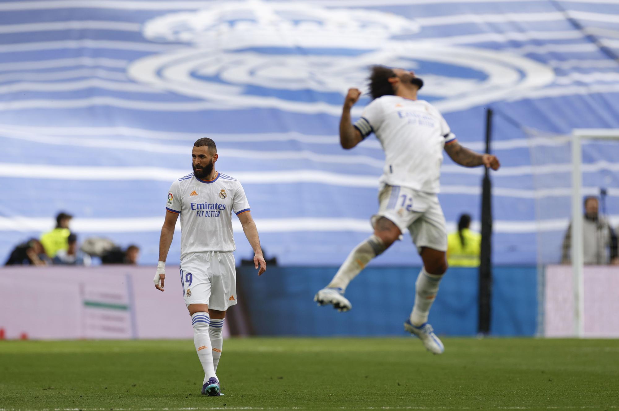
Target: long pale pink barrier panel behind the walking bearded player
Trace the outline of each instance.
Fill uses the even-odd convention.
[[[167,267],[163,293],[154,273],[128,265],[0,268],[0,336],[193,338],[178,267]]]

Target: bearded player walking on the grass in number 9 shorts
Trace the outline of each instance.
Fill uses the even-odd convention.
[[[163,291],[165,260],[174,227],[181,215],[181,283],[183,297],[191,315],[194,344],[204,369],[202,394],[219,396],[215,371],[222,355],[222,327],[226,310],[235,305],[236,246],[232,236],[232,212],[241,221],[249,244],[254,249],[258,275],[266,270],[258,230],[241,183],[215,170],[217,147],[210,138],[194,143],[191,154],[193,173],[172,183],[159,240],[159,264],[155,288]]]

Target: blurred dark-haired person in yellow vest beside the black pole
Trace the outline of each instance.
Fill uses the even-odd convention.
[[[479,267],[482,235],[469,227],[470,215],[462,214],[458,231],[447,236],[447,263],[450,267]]]

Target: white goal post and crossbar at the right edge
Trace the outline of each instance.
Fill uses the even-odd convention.
[[[572,273],[574,281],[574,334],[584,336],[584,244],[582,241],[582,140],[617,139],[619,128],[576,128],[572,131]]]

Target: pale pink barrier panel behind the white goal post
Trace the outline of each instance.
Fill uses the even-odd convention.
[[[546,268],[544,335],[574,336],[574,288],[569,265]],[[619,337],[619,267],[584,267],[584,336]]]

